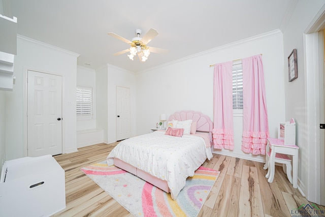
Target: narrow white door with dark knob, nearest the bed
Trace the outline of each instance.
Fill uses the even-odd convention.
[[[130,137],[130,89],[116,86],[116,140]]]

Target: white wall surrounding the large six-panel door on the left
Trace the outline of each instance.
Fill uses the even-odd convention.
[[[76,151],[77,54],[22,36],[17,37],[13,91],[6,92],[6,160],[27,154],[26,73],[27,69],[62,76],[63,153]]]

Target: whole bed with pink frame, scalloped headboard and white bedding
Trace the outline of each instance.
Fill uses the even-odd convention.
[[[188,131],[189,122],[190,133],[185,132]],[[185,186],[186,178],[193,176],[206,159],[212,158],[213,125],[207,115],[197,111],[175,112],[167,123],[172,129],[121,141],[109,153],[107,164],[115,165],[171,193],[175,200]],[[179,128],[184,129],[181,137],[166,135]]]

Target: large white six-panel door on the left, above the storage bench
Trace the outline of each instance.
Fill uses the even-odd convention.
[[[62,153],[62,77],[27,72],[27,155]]]

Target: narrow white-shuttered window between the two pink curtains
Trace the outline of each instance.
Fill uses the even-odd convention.
[[[243,113],[243,68],[242,60],[233,63],[233,109],[234,113]]]

